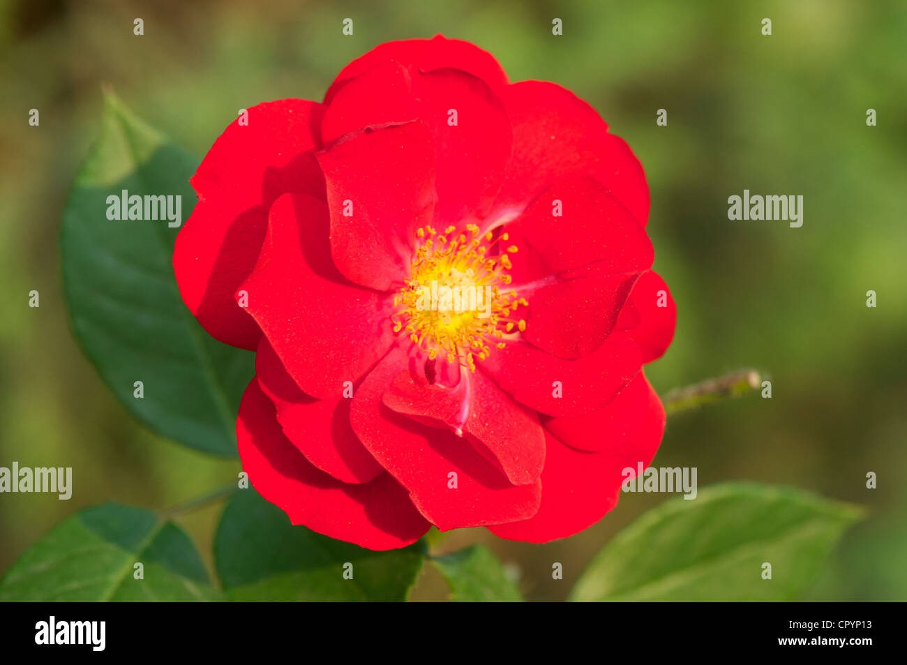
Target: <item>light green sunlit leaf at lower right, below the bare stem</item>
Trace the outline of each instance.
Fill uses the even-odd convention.
[[[730,483],[671,499],[618,533],[573,601],[786,601],[814,582],[851,504],[793,488]],[[764,580],[763,563],[772,579]]]

